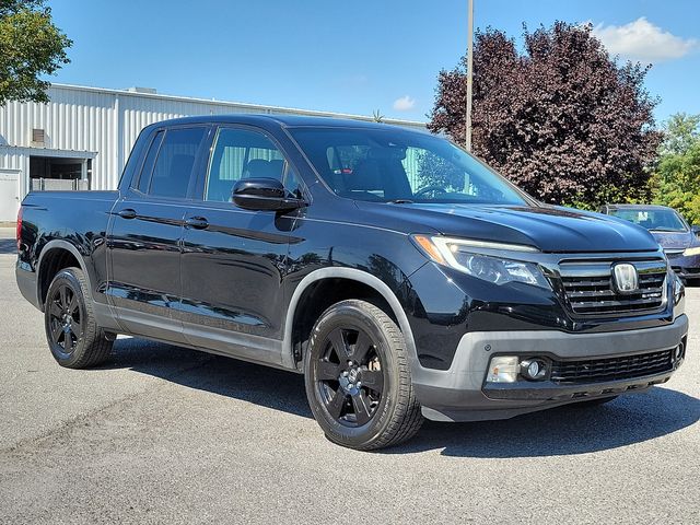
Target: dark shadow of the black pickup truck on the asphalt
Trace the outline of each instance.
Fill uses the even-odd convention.
[[[106,368],[131,369],[190,388],[312,417],[304,380],[291,372],[138,339],[118,340]],[[425,421],[411,441],[382,453],[442,450],[446,456],[483,458],[585,454],[653,440],[699,419],[699,399],[654,387],[598,407],[560,407],[502,421]]]

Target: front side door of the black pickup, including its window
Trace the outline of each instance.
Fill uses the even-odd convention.
[[[222,127],[211,149],[203,195],[187,211],[180,318],[195,346],[279,363],[281,280],[295,213],[248,211],[231,202],[246,177],[275,177],[296,192],[299,178],[271,138]]]

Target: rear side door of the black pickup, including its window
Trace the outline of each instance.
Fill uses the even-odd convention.
[[[140,174],[113,209],[107,295],[131,334],[184,342],[180,241],[209,127],[161,129]]]

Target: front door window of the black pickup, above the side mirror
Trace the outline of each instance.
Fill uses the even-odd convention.
[[[208,172],[205,200],[229,202],[242,178],[277,178],[290,192],[299,191],[299,178],[275,143],[246,129],[219,129]]]

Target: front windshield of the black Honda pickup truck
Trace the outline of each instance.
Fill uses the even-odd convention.
[[[291,128],[339,196],[376,202],[526,205],[500,175],[451,142],[387,126]]]

